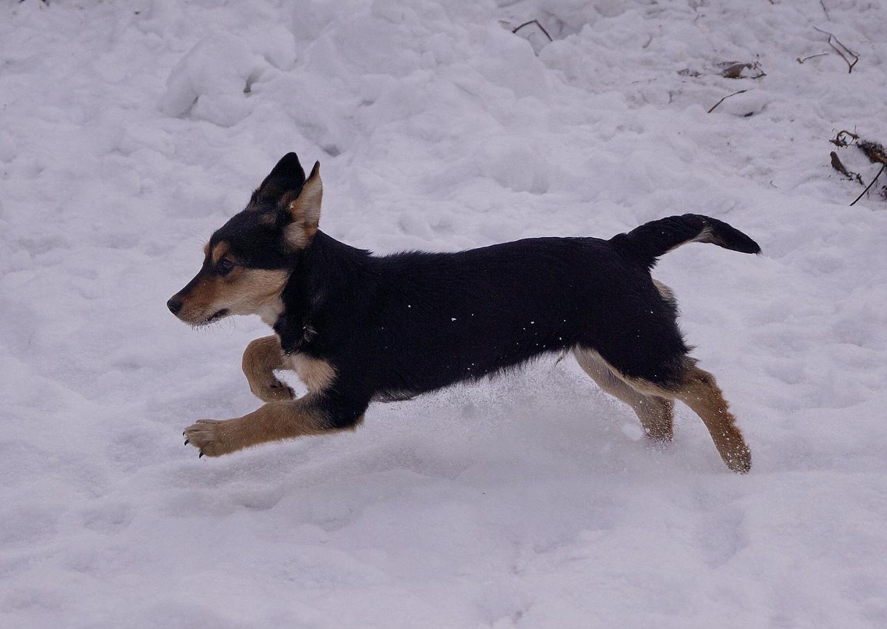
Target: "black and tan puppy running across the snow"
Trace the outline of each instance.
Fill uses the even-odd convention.
[[[687,355],[671,292],[650,277],[687,242],[759,253],[707,216],[670,216],[610,240],[535,238],[459,253],[373,256],[318,231],[319,164],[305,178],[281,159],[247,208],[216,231],[200,272],[168,303],[192,326],[258,314],[275,334],[243,355],[264,402],[185,429],[200,456],[355,429],[373,400],[401,400],[570,350],[634,409],[651,439],[671,439],[673,400],[708,427],[726,465],[747,472],[748,446],[714,377]],[[308,388],[294,399],[275,370]]]

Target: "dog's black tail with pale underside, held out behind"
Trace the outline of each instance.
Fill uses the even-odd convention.
[[[735,227],[717,218],[699,214],[668,216],[620,233],[609,240],[616,247],[627,249],[648,268],[653,268],[659,256],[687,242],[710,242],[718,247],[759,254],[761,248]]]

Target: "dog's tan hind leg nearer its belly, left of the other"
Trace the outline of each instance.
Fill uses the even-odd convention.
[[[596,351],[575,350],[573,355],[600,389],[632,407],[649,439],[671,441],[674,409],[671,399],[640,393],[613,373]]]

